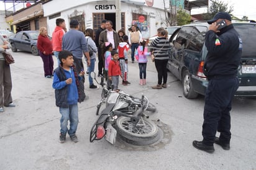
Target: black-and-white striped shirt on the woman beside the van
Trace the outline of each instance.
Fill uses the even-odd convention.
[[[170,48],[169,40],[165,37],[157,37],[150,44],[153,47],[153,54],[155,55],[155,60],[168,60],[169,54],[168,50]]]

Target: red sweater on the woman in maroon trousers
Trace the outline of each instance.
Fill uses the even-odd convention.
[[[45,55],[50,55],[52,53],[52,42],[48,37],[39,35],[39,38],[37,39],[37,48],[42,53],[45,51]]]

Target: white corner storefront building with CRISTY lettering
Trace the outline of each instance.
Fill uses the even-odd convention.
[[[143,38],[149,38],[157,34],[159,27],[166,27],[164,6],[169,6],[169,1],[153,0],[121,0],[121,29],[129,34],[129,27],[137,24]],[[43,14],[47,18],[49,35],[55,29],[55,20],[63,18],[69,30],[69,22],[77,19],[80,22],[80,30],[98,29],[101,20],[111,20],[116,30],[116,1],[89,1],[89,0],[54,0],[43,3]],[[118,31],[118,30],[117,30]]]

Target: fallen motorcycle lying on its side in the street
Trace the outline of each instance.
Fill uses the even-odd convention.
[[[94,72],[91,72],[90,76],[98,83]],[[98,84],[103,90],[96,115],[99,114],[101,105],[106,104],[106,108],[101,111],[91,128],[90,142],[101,140],[105,136],[109,143],[114,144],[119,136],[121,140],[133,145],[150,145],[160,139],[159,128],[146,114],[155,112],[156,108],[146,96],[142,94],[142,97],[138,98],[121,90],[107,89],[104,77],[101,77],[101,83]]]

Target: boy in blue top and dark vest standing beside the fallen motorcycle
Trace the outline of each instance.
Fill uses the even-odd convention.
[[[78,87],[79,81],[85,75],[81,71],[78,75],[73,65],[73,55],[70,51],[60,51],[58,55],[60,66],[55,69],[53,74],[52,87],[55,89],[56,105],[60,107],[60,143],[66,140],[66,133],[70,135],[71,141],[78,142],[76,129],[78,127]],[[70,129],[68,129],[68,120],[70,120]]]

